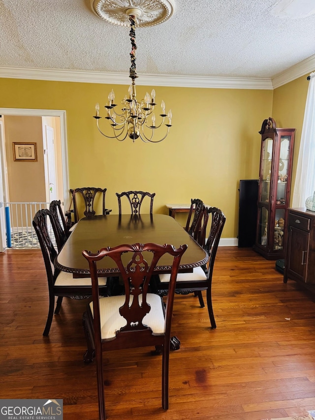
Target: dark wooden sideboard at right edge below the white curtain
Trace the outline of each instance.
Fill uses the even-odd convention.
[[[289,208],[284,283],[288,279],[315,291],[315,212]]]

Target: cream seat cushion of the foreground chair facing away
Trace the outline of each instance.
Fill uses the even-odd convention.
[[[130,296],[130,303],[132,302],[132,297]],[[141,296],[139,296],[139,301],[141,302]],[[119,313],[119,308],[123,306],[124,302],[125,295],[101,297],[99,299],[102,340],[115,337],[116,332],[126,325],[125,318]],[[163,335],[165,320],[161,298],[157,294],[147,293],[147,302],[151,306],[151,310],[143,318],[142,323],[152,329],[153,335]],[[93,314],[93,302],[90,303],[90,308]]]

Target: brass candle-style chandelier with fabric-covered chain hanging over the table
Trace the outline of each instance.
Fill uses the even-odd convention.
[[[128,1],[128,3],[129,5],[132,5],[130,0]],[[104,19],[104,17],[100,15],[99,7],[98,9],[96,8],[95,11],[99,14],[100,17]],[[102,11],[104,11],[104,8]],[[135,64],[137,49],[135,42],[135,27],[136,19],[143,15],[143,10],[141,10],[139,7],[128,7],[125,8],[123,12],[129,20],[129,24],[125,24],[124,26],[130,27],[129,36],[131,41],[131,66],[129,69],[129,77],[131,78],[132,82],[128,89],[128,95],[126,95],[125,98],[121,101],[121,107],[119,107],[117,103],[115,103],[115,94],[113,90],[108,95],[108,103],[106,103],[106,105],[104,106],[104,118],[108,120],[108,128],[112,130],[112,135],[105,134],[105,132],[102,131],[102,129],[100,128],[99,120],[101,119],[101,117],[99,115],[98,103],[96,103],[95,105],[95,115],[93,117],[96,120],[97,129],[103,136],[107,138],[116,138],[119,141],[124,141],[127,137],[129,137],[133,142],[137,138],[140,138],[145,143],[159,143],[160,141],[166,138],[166,136],[169,133],[170,127],[172,127],[172,112],[171,110],[169,110],[167,114],[165,113],[165,103],[162,100],[161,108],[159,111],[160,113],[158,114],[158,117],[156,117],[155,106],[157,105],[157,103],[156,92],[154,89],[151,92],[151,96],[147,92],[144,99],[141,99],[140,101],[137,100],[135,80],[138,76]],[[112,19],[110,21],[111,23],[117,23],[113,22]],[[148,22],[146,22],[146,25],[143,26],[149,26]],[[155,134],[157,129],[160,129],[161,131],[163,128],[164,131],[161,133],[160,136]]]

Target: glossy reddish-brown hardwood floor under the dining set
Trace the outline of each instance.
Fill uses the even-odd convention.
[[[105,355],[112,420],[261,420],[315,409],[315,303],[283,283],[251,249],[219,248],[213,276],[217,329],[192,294],[177,295],[169,410],[161,408],[161,360],[151,349]],[[49,337],[41,252],[0,254],[0,398],[63,398],[65,420],[98,419],[95,364],[83,363],[86,301],[63,300]],[[204,296],[205,297],[205,296]]]

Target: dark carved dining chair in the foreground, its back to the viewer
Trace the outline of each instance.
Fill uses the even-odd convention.
[[[82,252],[89,261],[93,292],[93,302],[87,305],[87,311],[83,315],[88,345],[85,361],[92,361],[95,353],[100,420],[105,420],[102,354],[107,350],[147,346],[161,348],[162,407],[164,410],[168,409],[168,369],[174,292],[180,260],[186,249],[187,245],[175,249],[172,245],[148,243],[103,248],[96,254]],[[153,271],[159,259],[165,254],[173,257],[166,308],[160,296],[148,292]],[[112,258],[120,270],[125,285],[124,296],[99,298],[97,261],[105,257]],[[150,259],[150,262],[145,258]]]

